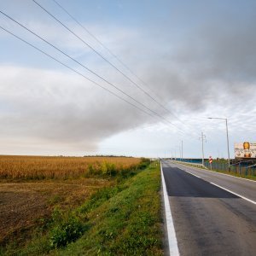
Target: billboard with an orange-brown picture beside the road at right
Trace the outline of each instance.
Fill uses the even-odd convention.
[[[256,143],[235,143],[236,158],[256,158]]]

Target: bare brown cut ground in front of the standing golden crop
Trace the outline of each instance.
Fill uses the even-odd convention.
[[[103,186],[104,179],[64,182],[0,183],[0,243],[20,230],[32,230],[39,218],[47,218],[55,206],[72,208],[82,204]]]

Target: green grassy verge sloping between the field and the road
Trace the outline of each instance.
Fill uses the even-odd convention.
[[[72,212],[56,209],[25,247],[6,255],[162,255],[160,166],[100,189]],[[1,253],[1,251],[0,251]]]

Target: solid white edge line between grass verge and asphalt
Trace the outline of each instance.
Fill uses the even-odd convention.
[[[170,206],[168,195],[167,195],[166,181],[165,181],[161,161],[160,161],[160,168],[161,168],[163,194],[164,194],[164,202],[165,202],[165,209],[166,209],[166,226],[167,226],[167,235],[168,235],[168,243],[169,243],[169,253],[172,256],[179,256],[176,232],[174,229],[173,219],[172,219],[172,210],[171,210],[171,206]]]

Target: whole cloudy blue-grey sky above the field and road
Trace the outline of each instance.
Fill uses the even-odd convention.
[[[0,1],[0,154],[201,158],[203,133],[226,158],[224,119],[231,157],[256,142],[255,1],[36,2],[69,31]]]

